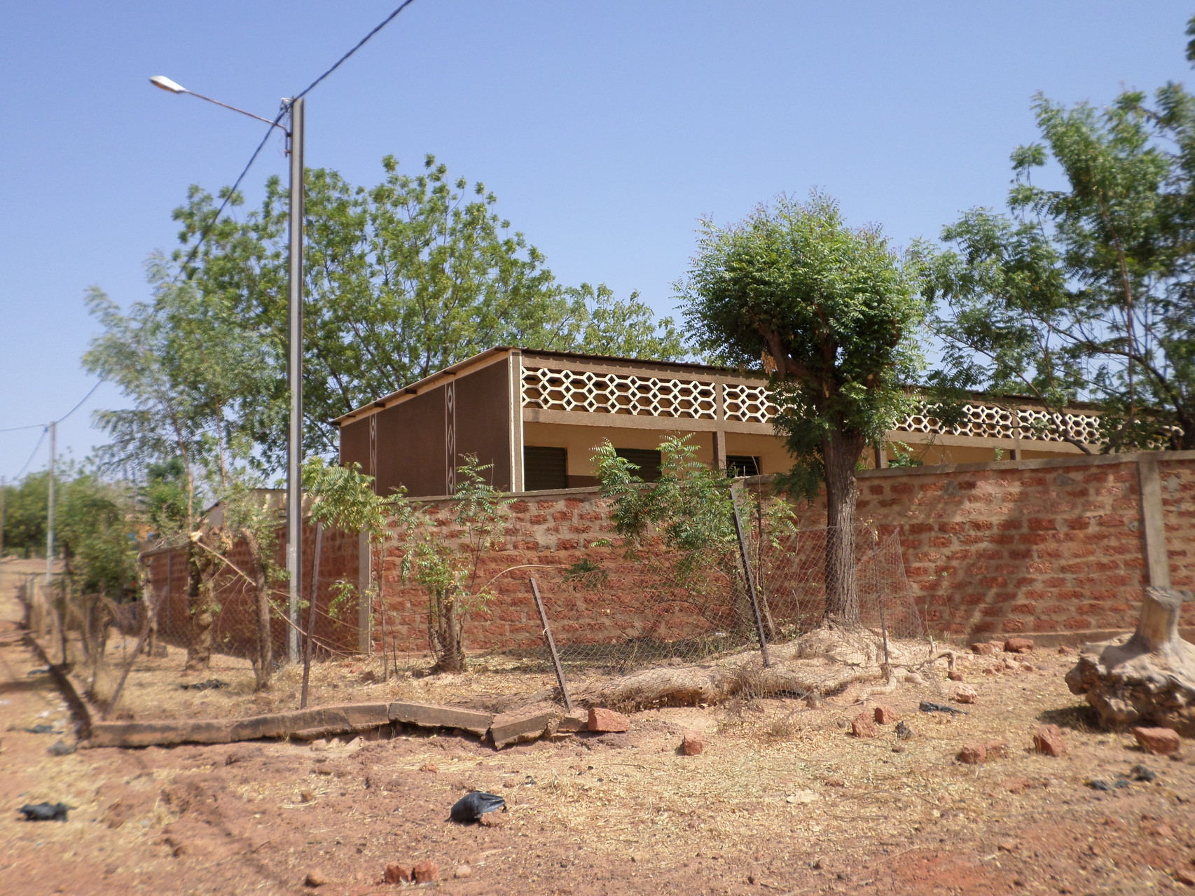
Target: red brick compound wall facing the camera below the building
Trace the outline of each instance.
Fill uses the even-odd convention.
[[[1195,582],[1195,453],[1159,456],[1172,583]],[[448,502],[430,502],[445,538]],[[513,505],[505,545],[486,556],[494,575],[517,564],[565,566],[588,558],[609,572],[598,593],[577,593],[551,608],[553,627],[601,642],[627,637],[627,615],[644,633],[667,619],[674,631],[692,608],[642,600],[643,570],[611,546],[608,509],[595,490],[522,497]],[[865,471],[859,520],[896,532],[911,594],[931,631],[969,637],[1029,633],[1081,640],[1132,628],[1147,584],[1135,456],[1006,461]],[[825,526],[825,503],[802,504],[802,528]],[[387,643],[427,649],[424,599],[402,582],[402,546],[382,556]],[[498,597],[466,628],[471,649],[538,643],[540,624],[527,588],[531,571],[500,579]],[[538,573],[544,575],[544,573]],[[1188,605],[1184,625],[1195,625]],[[380,632],[374,631],[375,643]],[[673,636],[675,637],[675,636]]]

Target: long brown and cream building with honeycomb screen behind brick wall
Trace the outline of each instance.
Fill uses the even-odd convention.
[[[998,456],[1060,458],[1080,449],[1041,423],[1040,404],[976,397],[950,430],[912,415],[887,434],[925,464],[991,461]],[[698,458],[741,474],[791,466],[772,430],[776,409],[761,375],[705,364],[495,348],[447,367],[338,417],[341,461],[356,461],[380,493],[404,485],[412,496],[451,495],[465,454],[492,464],[504,491],[596,484],[594,446],[609,440],[651,478],[668,435],[693,434]],[[1064,425],[1084,443],[1098,438],[1098,418],[1068,413]],[[887,466],[877,447],[869,464]]]

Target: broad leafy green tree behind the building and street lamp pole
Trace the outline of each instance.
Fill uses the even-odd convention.
[[[335,450],[327,421],[494,345],[684,354],[672,321],[657,324],[637,295],[557,283],[483,184],[449,177],[433,157],[416,174],[402,173],[393,157],[382,168],[370,188],[330,170],[306,174],[308,452]],[[241,410],[261,424],[262,458],[277,468],[286,438],[287,191],[274,178],[258,209],[219,221],[215,213],[215,197],[192,188],[174,211],[182,223],[174,259],[201,297],[194,313],[221,314],[243,330],[271,370]]]

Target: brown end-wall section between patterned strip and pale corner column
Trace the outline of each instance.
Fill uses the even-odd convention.
[[[510,380],[505,363],[490,364],[458,376],[456,459],[476,454],[489,471],[495,489],[510,489]]]

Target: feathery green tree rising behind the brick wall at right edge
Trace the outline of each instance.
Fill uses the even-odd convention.
[[[1077,399],[1102,406],[1104,452],[1195,448],[1195,97],[1171,82],[1034,111],[1009,213],[967,213],[929,253],[934,379],[1034,394],[1083,450],[1062,418]],[[1035,183],[1043,168],[1064,185]]]

